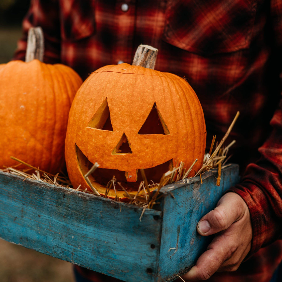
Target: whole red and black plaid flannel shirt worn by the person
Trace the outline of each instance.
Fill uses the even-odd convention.
[[[84,79],[131,63],[141,43],[158,48],[155,69],[185,76],[197,93],[208,145],[241,112],[229,138],[237,140],[232,161],[249,165],[232,190],[250,210],[251,256],[209,281],[269,281],[282,259],[282,0],[31,0],[15,59],[24,59],[31,26],[43,28],[44,61]]]

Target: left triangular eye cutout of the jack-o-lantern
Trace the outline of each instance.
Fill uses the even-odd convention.
[[[103,101],[102,105],[91,118],[87,127],[113,131],[107,98]]]

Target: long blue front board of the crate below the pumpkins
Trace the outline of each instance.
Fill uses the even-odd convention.
[[[155,281],[161,212],[140,222],[142,208],[68,191],[0,172],[0,237],[127,282]]]

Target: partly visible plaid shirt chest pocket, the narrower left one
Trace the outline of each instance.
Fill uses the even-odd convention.
[[[61,38],[76,41],[95,32],[95,0],[60,0]]]

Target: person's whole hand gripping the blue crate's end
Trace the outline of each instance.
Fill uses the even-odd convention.
[[[244,200],[236,193],[226,193],[217,207],[198,223],[202,236],[218,233],[182,278],[186,281],[206,280],[216,271],[235,271],[251,248],[252,225]]]

